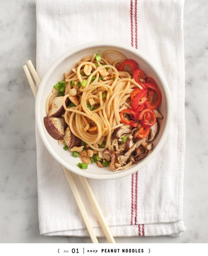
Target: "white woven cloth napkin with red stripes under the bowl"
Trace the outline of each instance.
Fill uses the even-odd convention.
[[[114,236],[177,236],[185,230],[183,5],[183,0],[37,0],[41,78],[58,57],[77,45],[118,41],[146,54],[171,91],[171,129],[157,156],[125,178],[89,180]],[[37,130],[36,143],[40,233],[88,236],[62,168]],[[74,178],[95,233],[103,236],[79,179]]]

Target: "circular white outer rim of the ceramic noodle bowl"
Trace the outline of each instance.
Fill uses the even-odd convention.
[[[44,89],[44,85],[46,84],[46,81],[48,80],[51,71],[55,69],[64,59],[69,57],[72,54],[75,54],[79,52],[80,50],[86,49],[86,48],[91,48],[91,47],[114,47],[114,48],[120,48],[121,50],[127,50],[131,52],[134,55],[138,55],[143,61],[147,62],[147,64],[152,68],[152,70],[156,73],[157,77],[161,81],[162,87],[164,89],[164,94],[166,97],[166,106],[167,106],[167,116],[166,116],[166,122],[164,126],[164,131],[161,134],[160,140],[157,143],[157,147],[149,154],[146,158],[143,159],[143,161],[140,163],[139,168],[137,165],[134,165],[133,168],[127,169],[125,171],[121,172],[114,172],[114,174],[93,174],[89,172],[84,172],[83,170],[80,169],[80,171],[77,171],[74,166],[70,165],[70,163],[66,164],[66,162],[58,156],[56,151],[50,146],[45,134],[44,134],[44,127],[41,122],[41,95]],[[36,97],[36,106],[35,106],[35,116],[36,116],[36,123],[37,123],[37,128],[41,137],[41,140],[43,144],[46,146],[48,152],[66,169],[74,172],[75,174],[84,176],[86,178],[91,178],[91,179],[99,179],[99,180],[110,180],[110,179],[118,179],[122,178],[125,176],[128,176],[130,174],[133,174],[134,172],[142,169],[144,166],[147,165],[148,162],[150,162],[160,151],[162,145],[165,143],[165,140],[167,138],[167,135],[170,130],[170,125],[171,125],[171,119],[172,119],[172,105],[171,105],[171,96],[170,96],[170,90],[167,85],[167,81],[162,74],[162,72],[158,69],[155,68],[155,65],[153,62],[143,53],[141,53],[138,49],[133,48],[132,46],[125,45],[125,44],[120,44],[118,42],[108,42],[108,41],[94,41],[94,42],[88,42],[79,46],[76,46],[75,48],[72,48],[71,50],[67,51],[61,57],[59,57],[53,64],[48,68],[46,74],[44,75],[41,84],[39,85],[37,97]],[[137,167],[137,168],[136,168]]]

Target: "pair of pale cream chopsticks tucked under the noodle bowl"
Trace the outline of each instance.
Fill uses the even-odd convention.
[[[28,68],[29,68],[29,69],[28,69]],[[28,61],[27,61],[27,65],[24,65],[24,66],[23,66],[23,69],[24,69],[25,75],[27,76],[29,85],[30,85],[30,87],[31,87],[31,89],[32,89],[33,95],[34,95],[34,97],[36,98],[37,89],[36,89],[36,85],[34,84],[34,81],[36,82],[37,87],[38,87],[38,86],[40,85],[40,83],[41,83],[41,80],[40,80],[40,78],[39,78],[39,76],[38,76],[38,74],[37,74],[37,72],[36,72],[36,69],[34,68],[34,66],[33,66],[31,60],[28,60]],[[33,81],[33,78],[32,78],[32,76],[31,76],[29,70],[30,70],[30,72],[31,72],[31,74],[32,74],[32,76],[33,76],[33,78],[34,78],[34,81]],[[62,166],[62,167],[63,167],[63,166]],[[74,181],[74,179],[73,179],[73,177],[72,177],[72,174],[71,174],[71,172],[70,172],[69,170],[67,170],[65,167],[63,167],[63,171],[64,171],[64,173],[65,173],[65,175],[66,175],[66,178],[67,178],[67,180],[68,180],[68,184],[70,185],[70,188],[71,188],[72,193],[73,193],[73,195],[74,195],[74,198],[75,198],[75,201],[76,201],[76,203],[77,203],[77,206],[78,206],[78,208],[79,208],[79,210],[80,210],[80,213],[81,213],[81,215],[82,215],[82,218],[83,218],[83,220],[84,220],[84,222],[85,222],[86,229],[87,229],[88,232],[89,232],[91,241],[92,241],[93,243],[98,243],[98,239],[96,238],[95,232],[94,232],[94,230],[93,230],[93,226],[92,226],[91,223],[90,223],[88,214],[87,214],[87,212],[86,212],[86,210],[85,210],[85,207],[84,207],[84,205],[83,205],[83,203],[82,203],[82,200],[81,200],[81,198],[80,198],[80,195],[79,195],[79,192],[78,192],[78,190],[77,190],[75,181]],[[108,242],[109,242],[109,243],[115,243],[114,238],[113,238],[113,235],[112,235],[112,233],[110,232],[110,229],[109,229],[109,227],[108,227],[108,225],[107,225],[107,223],[106,223],[106,220],[105,220],[105,218],[104,218],[104,216],[103,216],[103,214],[102,214],[102,212],[101,212],[101,209],[100,209],[100,207],[99,207],[99,205],[98,205],[98,202],[97,202],[97,200],[96,200],[96,198],[95,198],[95,196],[94,196],[93,190],[91,189],[88,180],[87,180],[85,177],[82,177],[82,176],[80,176],[80,175],[78,175],[78,176],[79,176],[79,179],[80,179],[80,181],[81,181],[81,183],[82,183],[82,186],[83,186],[83,188],[84,188],[84,190],[85,190],[85,193],[86,193],[87,196],[88,196],[88,199],[89,199],[89,201],[90,201],[90,203],[91,203],[91,206],[93,207],[93,210],[94,210],[94,212],[95,212],[95,215],[96,215],[96,217],[98,218],[98,221],[99,221],[99,223],[100,223],[100,225],[101,225],[101,228],[103,229],[103,232],[104,232],[104,234],[105,234],[105,236],[106,236]]]

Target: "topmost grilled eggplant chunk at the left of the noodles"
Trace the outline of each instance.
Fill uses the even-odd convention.
[[[63,108],[63,96],[60,97],[54,97],[51,103],[51,106],[49,108],[48,116],[57,117],[61,116],[65,110]],[[66,98],[65,104],[68,107],[70,100]]]

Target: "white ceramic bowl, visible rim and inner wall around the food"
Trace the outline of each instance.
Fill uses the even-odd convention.
[[[109,167],[99,168],[95,163],[90,164],[87,170],[81,170],[77,167],[77,163],[81,162],[80,158],[72,157],[72,154],[63,150],[63,145],[58,145],[57,140],[53,139],[46,131],[43,123],[43,118],[46,116],[45,104],[46,98],[51,93],[53,85],[58,81],[63,80],[63,73],[69,71],[76,63],[86,55],[94,53],[103,53],[105,50],[117,50],[126,55],[129,59],[134,59],[138,62],[139,67],[145,71],[148,76],[151,76],[157,82],[157,85],[162,93],[162,103],[159,107],[164,118],[160,120],[160,131],[156,140],[153,142],[153,151],[143,158],[136,165],[132,165],[127,170],[113,172]],[[90,42],[77,46],[70,51],[67,51],[48,69],[44,76],[36,98],[36,121],[41,139],[51,155],[65,166],[68,170],[92,179],[116,179],[127,176],[140,170],[144,167],[156,154],[159,152],[162,145],[165,143],[167,133],[171,122],[171,99],[167,82],[162,73],[155,67],[144,54],[140,51],[117,42]]]

